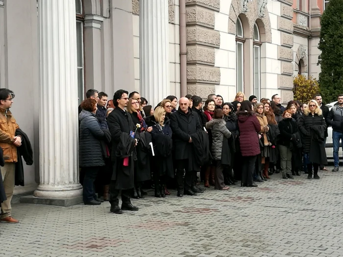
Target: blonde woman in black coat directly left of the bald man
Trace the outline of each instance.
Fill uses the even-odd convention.
[[[154,115],[147,120],[147,125],[152,127],[151,136],[154,146],[151,168],[155,183],[155,197],[166,197],[166,180],[174,177],[172,165],[172,129],[166,111],[159,106]]]

